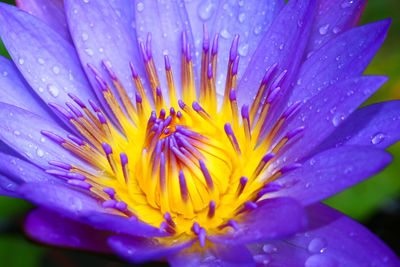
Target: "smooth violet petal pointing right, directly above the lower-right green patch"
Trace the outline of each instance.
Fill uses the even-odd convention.
[[[302,205],[309,205],[376,174],[391,160],[389,153],[369,147],[343,146],[326,150],[279,178],[276,182],[283,188],[266,197],[290,196]]]

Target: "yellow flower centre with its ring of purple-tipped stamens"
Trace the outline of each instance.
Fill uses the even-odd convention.
[[[134,100],[106,61],[102,67],[110,84],[88,65],[107,106],[100,108],[93,100],[87,105],[70,94],[71,102],[65,106],[50,106],[79,137],[42,131],[88,164],[51,161],[54,168],[47,172],[86,190],[106,212],[135,217],[173,237],[198,236],[202,246],[206,233],[236,229],[246,212],[257,208],[259,199],[279,189],[274,181],[299,166],[277,169],[274,162],[302,128],[284,132],[299,103],[266,127],[286,76],[276,64],[266,70],[251,105],[238,107],[238,35],[229,53],[224,94],[217,94],[218,41],[217,34],[210,46],[204,26],[200,88],[196,88],[191,47],[182,33],[179,83],[169,57],[164,58],[167,96],[159,82],[150,34],[140,43],[150,88],[145,90],[142,79],[146,77],[139,77],[131,64]]]

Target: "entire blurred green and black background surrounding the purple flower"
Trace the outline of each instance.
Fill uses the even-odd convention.
[[[389,76],[390,80],[367,101],[368,104],[400,99],[399,10],[398,0],[369,1],[360,22],[365,24],[393,18],[385,43],[366,71],[366,74]],[[0,53],[8,56],[1,42]],[[400,143],[393,145],[388,151],[394,155],[394,160],[383,172],[325,202],[366,224],[400,253],[399,241],[395,238],[400,221]],[[59,266],[60,260],[65,262],[66,266],[86,266],[94,263],[101,266],[125,265],[114,258],[99,259],[98,255],[45,247],[27,240],[23,235],[22,222],[31,208],[32,205],[23,200],[0,196],[1,266]]]

